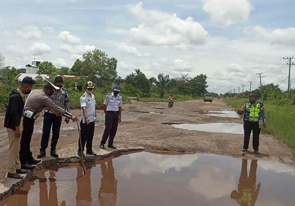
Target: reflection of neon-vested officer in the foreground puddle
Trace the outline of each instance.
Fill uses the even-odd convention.
[[[247,174],[247,159],[242,159],[242,170],[238,180],[237,191],[234,190],[231,198],[240,206],[255,206],[261,183],[256,186],[257,160],[251,161],[249,177]]]

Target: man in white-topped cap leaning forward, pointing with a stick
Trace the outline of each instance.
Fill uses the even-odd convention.
[[[34,159],[30,151],[30,141],[34,130],[34,123],[39,113],[46,107],[50,110],[56,112],[57,115],[62,115],[68,117],[74,121],[77,121],[77,117],[67,112],[63,108],[55,104],[50,96],[58,91],[59,87],[48,81],[44,85],[43,89],[33,90],[25,103],[24,107],[24,130],[21,138],[21,148],[20,148],[20,161],[22,168],[33,169],[36,163],[41,160]]]

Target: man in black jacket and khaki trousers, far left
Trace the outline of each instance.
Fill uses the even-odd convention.
[[[23,111],[25,95],[29,94],[35,81],[32,77],[25,77],[19,88],[12,90],[6,108],[4,127],[7,130],[9,140],[8,151],[8,178],[22,179],[19,174],[28,173],[28,170],[21,169],[19,157],[20,140],[23,131]]]

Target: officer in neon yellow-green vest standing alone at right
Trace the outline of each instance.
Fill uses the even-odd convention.
[[[257,101],[256,94],[250,94],[249,101],[244,103],[237,113],[244,114],[244,146],[242,151],[248,150],[252,131],[254,153],[259,154],[259,135],[262,121],[263,128],[266,128],[266,113],[263,103]]]

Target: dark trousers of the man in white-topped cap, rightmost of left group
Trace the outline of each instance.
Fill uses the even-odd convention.
[[[105,117],[106,129],[103,132],[100,144],[102,145],[106,144],[107,139],[109,138],[108,145],[110,146],[113,145],[114,138],[116,136],[117,129],[118,129],[118,123],[119,123],[119,113],[107,111],[106,117]]]

